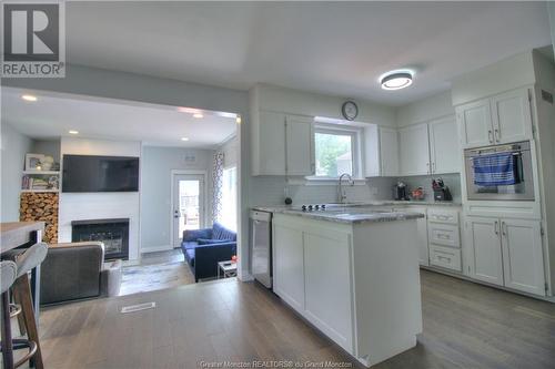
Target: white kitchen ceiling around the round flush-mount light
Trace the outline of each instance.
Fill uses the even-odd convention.
[[[551,43],[545,2],[67,2],[68,61],[246,90],[401,105]],[[379,76],[412,68],[414,84]]]

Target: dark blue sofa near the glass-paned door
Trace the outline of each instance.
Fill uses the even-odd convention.
[[[212,228],[183,230],[181,250],[194,275],[194,281],[218,276],[218,263],[231,260],[238,252],[233,230],[214,223]]]

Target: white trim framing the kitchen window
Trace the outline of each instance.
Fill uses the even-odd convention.
[[[334,135],[345,135],[351,136],[351,157],[353,160],[353,180],[363,180],[362,176],[362,129],[349,125],[335,125],[335,124],[314,124],[314,141],[317,133],[323,134],[334,134]],[[339,176],[323,176],[323,175],[311,175],[306,176],[309,181],[337,181]]]

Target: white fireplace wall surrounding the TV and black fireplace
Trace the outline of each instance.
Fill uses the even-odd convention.
[[[141,156],[140,142],[62,137],[61,155]],[[63,188],[62,188],[63,191]],[[71,222],[102,218],[129,218],[129,259],[139,258],[140,197],[127,193],[61,193],[59,239],[71,242]]]

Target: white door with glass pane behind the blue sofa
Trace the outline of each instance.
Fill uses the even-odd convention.
[[[204,227],[204,175],[173,174],[173,247],[180,247],[183,230]]]

